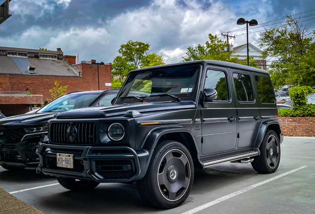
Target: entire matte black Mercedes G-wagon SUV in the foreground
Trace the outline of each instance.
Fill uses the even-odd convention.
[[[188,197],[194,168],[278,168],[283,134],[264,70],[213,60],[138,69],[112,102],[50,120],[37,169],[73,191],[136,182],[145,201],[174,208]]]

